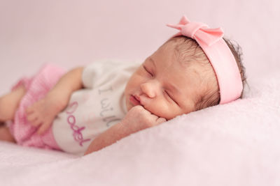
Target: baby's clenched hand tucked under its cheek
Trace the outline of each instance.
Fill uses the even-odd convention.
[[[132,107],[123,118],[123,125],[130,130],[130,133],[144,130],[148,127],[153,127],[167,121],[166,118],[160,118],[150,111],[144,109],[141,105]]]

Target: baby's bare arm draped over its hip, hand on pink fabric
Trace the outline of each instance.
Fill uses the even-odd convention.
[[[83,67],[74,68],[63,75],[57,84],[45,95],[27,108],[27,120],[38,128],[38,134],[48,130],[55,116],[68,104],[73,91],[83,88]]]

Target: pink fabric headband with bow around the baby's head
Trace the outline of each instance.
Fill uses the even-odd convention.
[[[181,18],[179,24],[167,26],[180,30],[175,36],[193,38],[202,47],[218,79],[220,104],[237,100],[241,95],[243,84],[235,56],[223,40],[223,30],[210,29],[207,24],[200,22],[190,22],[186,16]]]

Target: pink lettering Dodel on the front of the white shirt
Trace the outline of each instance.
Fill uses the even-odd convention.
[[[86,141],[90,141],[90,139],[83,139],[82,130],[85,129],[85,127],[79,127],[76,125],[76,118],[73,116],[73,113],[78,108],[78,102],[72,102],[69,104],[69,107],[67,108],[66,113],[69,114],[67,117],[67,122],[71,127],[71,130],[73,130],[73,139],[79,143],[80,146],[83,146],[83,143]]]

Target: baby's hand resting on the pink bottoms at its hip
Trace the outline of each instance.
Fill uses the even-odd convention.
[[[27,121],[34,127],[38,127],[38,134],[43,134],[61,110],[62,105],[56,97],[47,95],[27,108]]]

